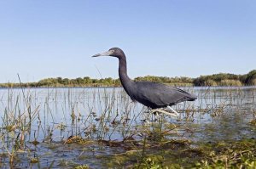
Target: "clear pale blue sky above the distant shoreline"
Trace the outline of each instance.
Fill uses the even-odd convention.
[[[256,69],[256,1],[0,1],[0,82],[118,78],[117,59],[90,57],[112,47],[131,78],[245,74]]]

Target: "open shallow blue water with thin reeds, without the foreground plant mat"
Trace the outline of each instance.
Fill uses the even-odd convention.
[[[256,129],[249,121],[256,114],[256,87],[183,89],[198,99],[173,106],[180,112],[178,117],[149,115],[121,87],[0,89],[1,152],[11,152],[22,135],[25,144],[19,145],[22,151],[17,153],[15,167],[49,167],[54,161],[53,168],[78,164],[99,168],[104,167],[102,156],[123,153],[125,147],[106,146],[97,140],[122,141],[130,136],[142,140],[140,128],[144,126],[154,130],[154,125],[160,125],[167,131],[176,125],[166,139],[187,138],[195,143],[255,137]],[[90,142],[63,144],[71,136]],[[32,144],[35,140],[37,145]],[[34,157],[39,162],[32,164]],[[9,168],[8,156],[1,162]]]

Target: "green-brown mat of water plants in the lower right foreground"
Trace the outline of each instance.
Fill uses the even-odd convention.
[[[171,140],[146,145],[139,150],[108,157],[108,167],[131,168],[256,168],[254,138],[233,142],[202,143],[196,148],[188,140]]]

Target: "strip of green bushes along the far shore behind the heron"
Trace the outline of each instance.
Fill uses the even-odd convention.
[[[171,86],[253,86],[256,85],[256,70],[245,75],[234,75],[219,73],[210,76],[190,77],[166,77],[166,76],[143,76],[137,77],[135,81],[162,82]],[[92,79],[89,76],[76,79],[68,78],[47,78],[39,82],[26,83],[2,83],[0,87],[119,87],[119,79],[111,77],[104,79]]]

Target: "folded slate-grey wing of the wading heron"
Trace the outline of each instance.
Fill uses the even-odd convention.
[[[196,97],[182,89],[169,87],[156,82],[137,82],[138,101],[148,101],[157,106],[173,105],[186,100],[192,101]]]

